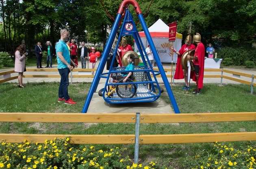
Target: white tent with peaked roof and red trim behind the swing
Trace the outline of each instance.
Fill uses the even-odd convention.
[[[170,47],[172,42],[169,43],[169,26],[167,26],[161,19],[158,19],[152,26],[148,28],[156,50],[158,52],[158,56],[161,62],[171,63],[171,50]],[[139,36],[141,36],[141,41],[145,48],[148,47],[148,41],[146,39],[144,32],[139,32]],[[176,33],[176,41],[174,41],[174,48],[179,51],[182,44],[182,34]],[[135,44],[135,51],[138,51],[138,47]],[[173,55],[173,62],[177,62],[177,54]]]

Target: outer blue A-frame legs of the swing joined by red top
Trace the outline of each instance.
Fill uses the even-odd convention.
[[[96,89],[98,87],[98,83],[100,81],[102,72],[104,70],[104,66],[106,64],[108,54],[109,54],[109,52],[111,50],[111,47],[113,45],[115,36],[116,36],[117,31],[119,29],[119,23],[120,23],[120,21],[122,19],[122,15],[124,14],[124,11],[126,10],[126,6],[129,5],[129,4],[132,4],[134,6],[134,9],[135,9],[135,11],[136,11],[136,13],[138,15],[139,21],[141,22],[141,26],[143,28],[143,31],[145,32],[146,38],[148,40],[148,43],[149,43],[149,45],[151,47],[152,53],[153,53],[154,58],[156,60],[156,64],[158,66],[159,73],[161,74],[161,77],[163,79],[163,82],[165,84],[165,88],[166,88],[168,96],[169,96],[169,99],[170,99],[171,104],[172,104],[172,106],[174,108],[174,112],[175,113],[180,113],[180,111],[178,109],[178,105],[177,105],[176,100],[174,98],[174,94],[172,93],[171,86],[170,86],[169,81],[168,81],[168,79],[167,79],[167,77],[165,75],[165,71],[163,69],[163,66],[161,64],[160,58],[159,58],[158,53],[156,51],[156,47],[154,46],[154,43],[153,43],[152,38],[150,36],[150,32],[148,31],[148,27],[145,24],[145,20],[143,18],[142,13],[141,13],[141,9],[139,8],[139,4],[135,0],[124,0],[123,2],[121,2],[121,5],[119,7],[116,19],[115,19],[114,24],[113,24],[113,28],[111,30],[111,33],[109,34],[108,41],[106,42],[106,47],[105,47],[105,49],[103,51],[100,64],[99,64],[99,66],[97,68],[97,71],[95,73],[95,76],[94,76],[92,84],[91,84],[91,87],[89,89],[89,93],[87,95],[84,107],[82,109],[82,113],[87,113],[87,111],[88,111],[88,108],[89,108],[89,105],[91,103],[91,99],[92,99],[93,93],[96,91]],[[137,34],[133,34],[133,36],[135,37],[135,41],[139,42],[139,44],[140,44],[141,43],[141,39],[140,39],[140,37],[138,37],[139,34],[138,33]],[[119,37],[119,40],[120,40],[120,37]],[[145,50],[144,47],[143,47],[143,49],[141,49],[141,47],[139,47],[139,52],[141,54],[143,53],[142,51],[144,51],[144,50]],[[117,51],[117,49],[115,49],[115,53],[116,53],[116,51]],[[143,54],[142,54],[142,57],[143,57]],[[147,56],[146,56],[146,58],[148,59]],[[144,58],[143,58],[143,63],[145,64],[145,59]],[[112,61],[112,64],[111,64],[111,68],[112,68],[112,65],[113,65],[113,61]],[[150,65],[150,69],[153,70],[151,65]],[[149,72],[147,72],[147,74],[149,75]],[[154,77],[155,77],[155,75],[154,75]],[[150,77],[150,80],[151,80],[151,77]],[[104,92],[105,92],[105,89],[104,89]]]

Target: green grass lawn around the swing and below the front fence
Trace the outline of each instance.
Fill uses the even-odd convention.
[[[69,95],[77,105],[58,103],[59,83],[27,83],[26,87],[17,88],[16,83],[1,83],[0,112],[66,112],[79,113],[91,83],[74,83],[69,86]],[[195,86],[192,86],[192,89]],[[172,90],[181,113],[201,112],[247,112],[256,111],[255,94],[250,94],[248,85],[205,84],[200,95],[184,94],[181,85]],[[254,91],[255,93],[255,91]],[[170,103],[167,93],[161,97]],[[102,99],[103,101],[103,99]],[[92,105],[90,105],[92,106]],[[135,111],[136,112],[136,111]],[[255,131],[256,122],[211,122],[181,124],[141,124],[140,134],[189,134],[189,133],[226,133]],[[0,133],[28,134],[134,134],[135,124],[85,124],[85,123],[0,123]],[[255,142],[254,142],[255,143]],[[229,142],[235,148],[245,148],[246,142]],[[106,146],[106,145],[95,145]],[[111,145],[109,145],[111,146]],[[126,146],[131,158],[134,145]],[[198,152],[213,150],[213,143],[187,144],[149,144],[140,145],[139,158],[143,161],[157,160],[158,163],[176,169],[186,169],[184,160]]]

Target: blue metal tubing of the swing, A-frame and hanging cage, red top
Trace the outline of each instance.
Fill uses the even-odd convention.
[[[149,62],[149,59],[148,59],[148,56],[145,52],[145,48],[143,47],[143,43],[141,41],[141,38],[139,36],[139,33],[138,33],[138,30],[135,26],[135,23],[132,19],[132,15],[130,14],[130,11],[129,9],[126,8],[127,5],[129,4],[132,4],[135,8],[135,11],[138,15],[138,18],[139,18],[139,21],[141,22],[141,26],[143,28],[143,31],[145,32],[145,35],[148,39],[148,43],[151,47],[151,50],[152,50],[152,53],[154,55],[154,58],[156,60],[156,64],[158,66],[158,69],[159,71],[153,71],[153,68],[151,66],[151,64],[149,64],[149,68],[147,66],[147,63],[146,63],[146,60],[144,58],[144,55],[143,55],[143,51],[145,53],[145,57],[147,59],[147,61]],[[113,45],[113,42],[114,42],[114,39],[115,39],[115,36],[117,34],[117,31],[118,31],[118,28],[119,28],[119,23],[122,19],[122,15],[124,15],[124,10],[126,11],[125,13],[125,17],[124,17],[124,22],[123,22],[123,25],[121,27],[121,31],[120,31],[120,35],[119,35],[119,38],[118,38],[118,42],[117,44],[119,44],[120,40],[121,40],[121,36],[127,36],[127,35],[132,35],[133,38],[135,39],[135,42],[137,44],[137,47],[138,47],[138,50],[141,54],[141,59],[143,61],[143,64],[144,66],[137,66],[141,69],[139,70],[133,70],[133,71],[129,71],[129,72],[146,72],[147,76],[148,76],[148,79],[149,81],[147,82],[133,82],[135,83],[136,85],[138,84],[141,84],[141,83],[150,83],[152,88],[151,90],[149,90],[148,92],[146,92],[147,94],[149,94],[149,96],[144,96],[144,97],[136,97],[136,98],[106,98],[104,96],[104,93],[106,92],[106,86],[110,86],[110,85],[117,85],[117,83],[108,83],[108,79],[109,79],[109,76],[111,73],[121,73],[121,72],[126,72],[126,71],[115,71],[114,68],[113,68],[113,62],[114,62],[114,59],[115,57],[113,57],[113,60],[111,62],[111,66],[110,66],[110,71],[108,73],[102,73],[103,70],[104,70],[104,65],[106,64],[106,60],[107,60],[107,57],[108,57],[108,54],[111,50],[111,47]],[[124,27],[125,27],[125,24],[127,23],[132,23],[133,25],[133,29],[128,31],[128,30],[125,30]],[[118,47],[116,47],[115,49],[115,52],[114,52],[114,56],[116,55],[117,53],[117,49]],[[114,71],[113,71],[114,70]],[[152,78],[150,76],[150,72],[152,72],[153,74],[153,77],[155,79],[155,81],[152,81]],[[161,74],[161,77],[163,79],[163,82],[165,84],[165,88],[167,90],[167,93],[169,95],[169,98],[170,98],[170,101],[173,105],[173,108],[174,108],[174,112],[175,113],[180,113],[179,109],[178,109],[178,105],[175,101],[175,98],[174,98],[174,95],[171,91],[171,87],[169,85],[169,81],[165,75],[165,71],[163,69],[163,66],[160,62],[160,58],[158,56],[158,53],[156,51],[156,48],[154,46],[154,43],[152,41],[152,38],[150,36],[150,33],[148,31],[148,27],[146,26],[145,24],[145,20],[143,18],[143,15],[141,13],[141,10],[139,8],[139,4],[135,1],[135,0],[124,0],[121,5],[120,5],[120,8],[119,8],[119,11],[117,13],[117,17],[114,21],[114,24],[113,24],[113,28],[111,30],[111,33],[109,35],[109,38],[108,38],[108,41],[106,42],[106,47],[103,51],[103,54],[102,54],[102,58],[101,58],[101,61],[100,61],[100,64],[97,68],[97,71],[95,73],[95,77],[93,78],[93,82],[92,82],[92,85],[91,85],[91,88],[89,90],[89,93],[87,95],[87,98],[86,98],[86,101],[85,101],[85,104],[84,104],[84,107],[82,109],[82,113],[87,113],[87,110],[89,108],[89,104],[91,102],[91,98],[93,96],[93,92],[95,92],[96,88],[98,87],[98,83],[100,81],[100,78],[106,78],[106,84],[105,84],[105,88],[104,88],[104,91],[103,91],[103,98],[104,100],[107,102],[107,103],[115,103],[115,104],[118,104],[118,103],[141,103],[141,102],[150,102],[150,101],[156,101],[159,97],[160,97],[160,94],[161,94],[161,89],[160,89],[160,86],[157,82],[157,79],[156,79],[156,75],[159,75]],[[107,76],[106,76],[107,75]],[[122,84],[131,84],[131,83],[118,83],[118,85],[122,85]],[[156,85],[154,85],[156,84]],[[158,94],[156,94],[155,92],[155,88],[158,89]],[[154,93],[152,93],[154,92]],[[137,92],[137,94],[140,94],[139,92]]]

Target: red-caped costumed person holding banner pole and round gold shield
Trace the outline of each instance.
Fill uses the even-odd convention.
[[[188,77],[187,70],[182,68],[181,57],[182,57],[183,53],[185,53],[186,51],[195,49],[195,45],[193,45],[191,43],[192,43],[192,37],[190,35],[188,35],[186,37],[185,44],[182,45],[182,47],[179,51],[176,51],[176,49],[174,49],[173,46],[171,47],[171,50],[173,50],[178,55],[174,79],[184,79],[185,85],[183,86],[182,89],[185,89],[185,90],[190,89],[190,87],[189,87],[190,84],[187,81],[187,77]]]

